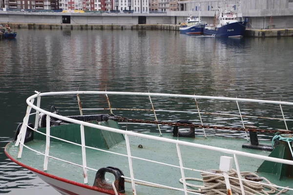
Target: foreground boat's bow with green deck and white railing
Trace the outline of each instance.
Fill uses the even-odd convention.
[[[293,195],[293,102],[35,91],[26,103],[5,154],[62,195]]]

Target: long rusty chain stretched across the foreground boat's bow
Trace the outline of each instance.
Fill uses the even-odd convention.
[[[159,124],[168,126],[183,126],[183,127],[194,127],[194,128],[204,128],[204,129],[217,129],[217,130],[230,130],[230,131],[245,131],[245,132],[261,132],[261,133],[280,133],[280,134],[292,134],[292,131],[287,130],[268,130],[268,129],[255,129],[255,128],[239,128],[239,127],[219,127],[212,125],[198,125],[198,124],[182,124],[178,122],[164,122],[156,120],[143,120],[143,119],[130,119],[127,117],[115,116],[118,121],[126,121],[133,123],[146,123],[146,124]]]

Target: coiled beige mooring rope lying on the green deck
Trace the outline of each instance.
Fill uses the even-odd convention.
[[[212,169],[209,171],[217,173],[217,174],[223,174],[223,172],[218,169]],[[245,195],[272,195],[275,193],[277,193],[275,195],[280,195],[282,193],[288,192],[287,189],[279,190],[279,189],[272,187],[272,186],[263,185],[263,184],[270,184],[270,185],[274,185],[274,184],[272,184],[265,177],[258,177],[253,172],[246,171],[246,172],[241,172],[240,174],[242,177],[253,176],[253,177],[257,177],[259,179],[263,179],[266,181],[266,183],[262,183],[262,182],[251,183],[249,181],[242,181]],[[185,178],[185,180],[201,181],[204,183],[203,186],[200,186],[200,185],[194,185],[194,184],[190,184],[190,183],[186,182],[187,186],[194,188],[194,190],[187,189],[188,192],[195,192],[195,193],[200,193],[203,195],[227,195],[227,188],[226,188],[224,176],[217,176],[212,173],[210,173],[210,174],[209,173],[201,173],[201,176],[202,176],[202,178],[194,178],[194,177],[186,177]],[[233,169],[229,173],[229,176],[238,178],[237,171]],[[231,187],[232,194],[233,195],[241,195],[242,191],[240,188],[239,179],[229,178],[229,180],[230,180],[230,187]],[[131,183],[131,180],[125,179],[125,181],[128,183]],[[183,183],[182,178],[180,178],[179,181],[181,183]],[[174,188],[169,188],[166,186],[160,186],[160,185],[155,185],[155,184],[148,184],[148,183],[144,183],[144,182],[135,181],[135,184],[144,185],[144,186],[148,186],[148,187],[154,187],[154,188],[162,188],[162,189],[167,189],[167,190],[176,190]],[[269,190],[265,190],[265,189],[269,189]],[[177,190],[184,190],[184,189],[177,189]]]

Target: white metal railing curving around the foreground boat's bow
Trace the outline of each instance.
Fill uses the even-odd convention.
[[[16,144],[15,144],[16,146],[19,146],[20,147],[19,148],[18,158],[21,158],[23,147],[26,147],[26,148],[28,148],[28,149],[30,149],[30,150],[38,153],[38,154],[44,155],[44,165],[43,165],[43,169],[44,170],[47,170],[48,158],[49,157],[50,158],[57,159],[57,160],[61,160],[63,162],[70,163],[70,164],[73,164],[73,165],[76,165],[76,166],[79,166],[79,167],[82,167],[84,169],[84,183],[87,183],[88,182],[87,181],[87,170],[97,171],[96,169],[87,167],[87,165],[86,165],[85,148],[89,148],[89,149],[93,149],[93,150],[98,150],[98,151],[103,151],[103,152],[107,152],[107,153],[111,153],[111,154],[115,154],[115,155],[120,155],[120,156],[126,156],[128,158],[128,165],[129,165],[130,177],[126,177],[125,176],[125,178],[130,178],[131,179],[131,184],[132,184],[132,188],[133,188],[134,195],[136,195],[135,183],[134,182],[135,181],[140,181],[140,180],[134,178],[134,173],[133,173],[133,169],[132,169],[132,158],[140,159],[140,160],[145,160],[145,161],[149,161],[149,162],[154,162],[154,163],[163,164],[163,165],[166,165],[166,166],[171,166],[171,167],[179,168],[180,169],[180,172],[181,172],[181,175],[183,177],[184,189],[177,189],[177,188],[173,188],[173,189],[180,190],[180,191],[184,191],[186,195],[187,195],[187,193],[198,194],[198,193],[189,192],[187,190],[186,181],[184,179],[185,178],[184,170],[191,170],[191,171],[197,171],[197,172],[204,172],[204,171],[202,171],[202,170],[195,170],[195,169],[191,169],[191,168],[184,167],[184,165],[182,163],[181,152],[180,152],[180,146],[181,145],[182,146],[190,146],[190,147],[194,147],[194,148],[200,148],[200,149],[206,149],[206,150],[212,150],[212,151],[216,151],[216,152],[222,152],[222,153],[226,153],[226,154],[233,155],[234,162],[235,162],[235,165],[236,165],[236,170],[237,170],[237,173],[238,173],[238,178],[234,178],[234,177],[230,177],[230,178],[234,178],[234,179],[238,179],[239,180],[240,186],[241,186],[241,191],[242,191],[242,194],[243,195],[244,195],[244,190],[243,190],[242,181],[248,181],[248,180],[242,179],[241,176],[240,176],[240,169],[239,169],[239,164],[238,164],[238,161],[237,161],[237,156],[246,156],[246,157],[252,157],[252,158],[257,158],[257,159],[262,159],[262,160],[268,160],[268,161],[277,162],[277,163],[284,163],[284,164],[293,165],[293,161],[292,160],[285,160],[285,159],[274,158],[274,157],[269,157],[269,156],[255,155],[255,154],[250,154],[250,153],[245,153],[245,152],[240,152],[240,151],[235,151],[235,150],[229,150],[229,149],[223,149],[223,148],[218,148],[218,147],[213,147],[213,146],[207,146],[207,145],[201,145],[201,144],[196,144],[196,143],[190,143],[190,142],[185,142],[185,141],[180,141],[180,140],[168,139],[168,138],[164,138],[164,137],[155,137],[155,136],[150,136],[150,135],[145,135],[145,134],[138,134],[138,133],[135,133],[135,132],[130,132],[130,131],[124,131],[124,130],[120,130],[120,129],[109,128],[109,127],[100,126],[100,125],[96,125],[96,124],[92,124],[92,123],[88,123],[88,122],[84,122],[84,121],[80,121],[80,120],[76,120],[76,119],[72,119],[72,118],[68,118],[68,117],[63,117],[63,116],[60,116],[60,115],[57,115],[57,114],[54,114],[54,113],[45,111],[45,110],[43,110],[43,109],[40,108],[40,105],[41,105],[41,97],[43,97],[43,96],[53,96],[53,95],[55,95],[55,96],[58,96],[58,95],[78,95],[79,96],[81,94],[88,94],[88,95],[89,94],[94,94],[94,95],[126,95],[126,96],[146,96],[146,97],[149,97],[149,99],[150,99],[150,97],[174,97],[174,98],[191,98],[191,99],[195,99],[195,101],[196,101],[196,98],[197,99],[199,99],[199,98],[203,98],[203,99],[219,99],[219,100],[236,101],[237,102],[238,109],[239,109],[240,116],[241,116],[241,112],[240,112],[240,108],[239,108],[239,105],[238,105],[238,101],[278,104],[278,105],[280,105],[280,109],[281,109],[281,112],[282,112],[283,120],[284,120],[284,122],[286,124],[286,120],[288,120],[288,119],[286,119],[284,117],[284,113],[283,113],[283,110],[282,110],[281,105],[293,105],[292,102],[255,100],[255,99],[244,99],[244,98],[223,98],[223,97],[209,97],[209,96],[195,96],[195,95],[192,96],[192,95],[154,94],[154,93],[131,93],[131,92],[92,92],[92,91],[83,92],[83,91],[79,91],[79,92],[48,92],[48,93],[39,93],[39,92],[36,92],[36,93],[37,93],[36,95],[33,95],[33,96],[27,98],[27,100],[26,100],[26,102],[28,104],[28,107],[27,107],[27,110],[26,110],[26,115],[25,115],[25,117],[23,119],[23,125],[21,127],[21,131],[20,131],[20,133],[19,133],[19,135],[17,137],[17,141],[16,141]],[[34,105],[35,98],[37,98],[37,105]],[[79,101],[80,101],[80,99],[79,99]],[[107,98],[107,101],[108,101],[108,98]],[[151,99],[150,99],[150,101],[151,101]],[[108,105],[109,105],[109,109],[111,109],[109,103],[108,103]],[[35,113],[31,113],[31,109],[32,108],[36,110]],[[81,109],[81,107],[80,107],[80,109]],[[155,115],[155,110],[153,108],[153,105],[152,105],[152,111],[154,112],[154,115]],[[47,121],[46,122],[46,133],[45,134],[42,133],[42,132],[39,132],[37,130],[37,124],[39,122],[39,114],[40,113],[43,113],[43,114],[47,115],[47,118],[46,118],[46,121]],[[197,105],[197,113],[200,113],[199,112],[198,105]],[[36,115],[36,118],[35,118],[35,129],[32,129],[31,127],[28,126],[28,120],[29,120],[29,117],[31,115]],[[51,136],[50,135],[50,122],[49,122],[50,121],[50,117],[55,117],[55,118],[59,118],[59,119],[64,120],[64,121],[68,121],[68,122],[80,124],[81,125],[81,143],[82,144],[77,144],[77,143],[74,143],[74,142],[70,142],[68,140],[61,139],[59,137],[53,137],[53,136]],[[157,120],[157,118],[156,118],[156,120]],[[242,120],[242,118],[241,118],[241,120]],[[243,122],[243,120],[242,120],[242,122]],[[201,123],[202,123],[202,121],[201,121]],[[98,149],[98,148],[93,148],[93,147],[85,146],[84,126],[92,127],[92,128],[97,128],[97,129],[101,129],[101,130],[105,130],[105,131],[109,131],[109,132],[124,134],[125,140],[126,140],[127,155],[123,155],[123,154],[119,154],[119,153],[110,152],[110,151],[107,151],[107,150],[102,150],[102,149]],[[39,152],[39,151],[33,150],[33,149],[29,148],[28,146],[24,145],[24,138],[25,138],[25,134],[26,134],[26,128],[30,128],[30,129],[34,130],[35,132],[40,133],[40,134],[46,136],[46,149],[45,149],[45,153],[44,154],[41,153],[41,152]],[[286,128],[288,129],[287,124],[286,124]],[[141,137],[141,138],[152,139],[152,140],[157,140],[157,141],[163,141],[163,142],[167,142],[167,143],[176,144],[177,155],[178,155],[178,158],[179,158],[179,165],[180,166],[176,166],[176,165],[167,164],[167,163],[164,163],[164,162],[158,162],[158,161],[153,161],[153,160],[149,160],[149,159],[145,159],[145,158],[140,158],[140,157],[132,156],[131,155],[131,150],[130,150],[130,143],[129,143],[129,139],[128,139],[129,136]],[[57,157],[54,157],[54,156],[50,156],[49,155],[50,137],[55,138],[55,139],[62,140],[62,141],[67,142],[67,143],[71,143],[71,144],[74,144],[74,145],[81,146],[82,147],[83,164],[82,165],[79,165],[79,164],[76,164],[76,163],[73,163],[73,162],[70,162],[70,161],[66,161],[66,160],[63,160],[63,159],[60,159],[60,158],[57,158]],[[217,174],[214,174],[214,175],[217,175]],[[147,182],[147,181],[142,181],[142,182],[150,183],[150,182]],[[253,183],[253,181],[248,181],[248,182],[252,182]],[[156,185],[163,186],[163,185],[160,185],[160,184],[156,184]],[[276,186],[276,185],[270,185],[270,184],[264,184],[264,185],[279,187],[279,188],[288,189],[288,190],[293,190],[292,188],[289,188],[289,187],[282,187],[282,186]],[[169,188],[171,189],[172,187],[169,187]]]

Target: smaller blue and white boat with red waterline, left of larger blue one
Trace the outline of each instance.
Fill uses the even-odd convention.
[[[201,19],[200,14],[200,4],[199,4],[199,16],[192,16],[190,15],[186,22],[182,23],[179,27],[181,34],[188,34],[188,35],[202,35],[204,32],[205,23]]]

